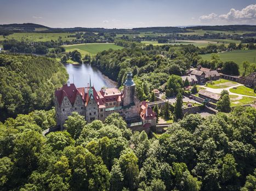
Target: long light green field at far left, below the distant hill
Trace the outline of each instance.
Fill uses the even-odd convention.
[[[43,28],[39,28],[43,30]],[[63,41],[65,40],[72,40],[76,39],[75,37],[68,37],[72,33],[13,33],[6,37],[0,35],[0,40],[7,40],[7,39],[15,39],[19,41],[50,41],[50,40],[58,40],[59,37]]]

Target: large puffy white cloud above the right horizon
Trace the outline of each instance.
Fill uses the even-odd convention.
[[[217,15],[211,13],[209,15],[202,15],[199,17],[201,22],[225,22],[225,23],[247,23],[256,24],[256,4],[248,5],[242,10],[230,9],[229,13]]]

